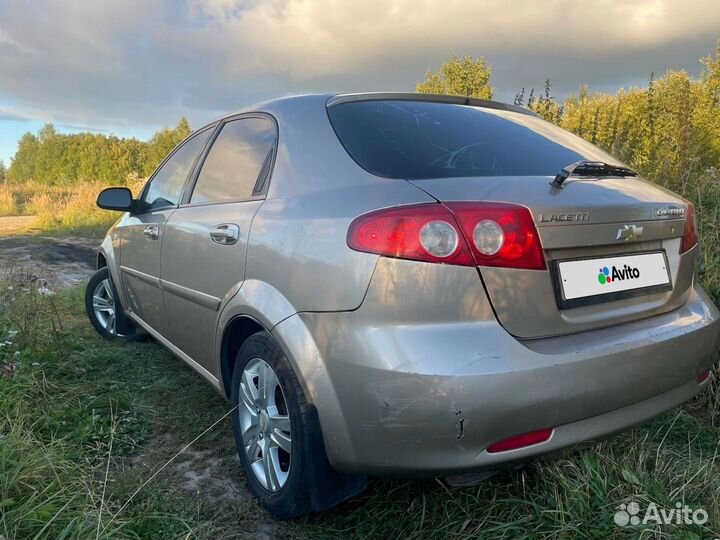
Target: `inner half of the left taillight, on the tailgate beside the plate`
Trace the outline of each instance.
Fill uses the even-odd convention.
[[[478,265],[547,268],[537,228],[524,206],[471,202],[446,206],[457,216]]]

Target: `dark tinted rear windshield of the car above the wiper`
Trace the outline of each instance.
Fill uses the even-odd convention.
[[[328,114],[352,158],[388,178],[555,176],[582,159],[620,165],[587,141],[521,112],[370,100],[331,105]]]

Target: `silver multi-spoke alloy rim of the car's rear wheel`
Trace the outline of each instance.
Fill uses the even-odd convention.
[[[238,415],[243,448],[258,482],[268,491],[283,488],[290,473],[292,435],[285,394],[275,371],[251,359],[240,380]]]

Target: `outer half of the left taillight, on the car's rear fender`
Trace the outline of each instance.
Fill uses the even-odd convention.
[[[452,213],[440,204],[377,210],[350,224],[352,249],[386,257],[474,266]]]

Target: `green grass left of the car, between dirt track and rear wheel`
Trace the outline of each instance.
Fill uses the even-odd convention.
[[[226,538],[261,520],[251,499],[178,490],[180,459],[131,499],[226,404],[155,343],[100,341],[81,289],[49,297],[36,285],[15,277],[0,289],[0,537]],[[226,419],[192,450],[229,429]]]

